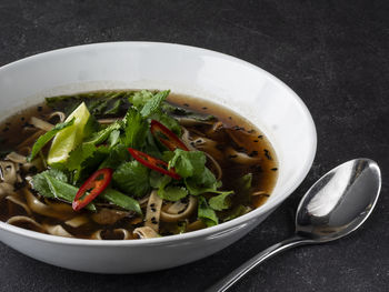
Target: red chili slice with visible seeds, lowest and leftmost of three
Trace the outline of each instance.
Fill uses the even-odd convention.
[[[98,197],[111,182],[112,169],[96,171],[78,190],[72,203],[74,211],[79,211]]]

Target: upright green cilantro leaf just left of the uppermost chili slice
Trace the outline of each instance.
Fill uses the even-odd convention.
[[[124,122],[123,144],[136,149],[141,148],[144,144],[146,135],[149,130],[147,120],[142,118],[137,109],[131,108],[124,117]]]

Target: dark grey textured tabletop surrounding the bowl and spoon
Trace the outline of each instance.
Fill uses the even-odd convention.
[[[341,3],[340,3],[341,2]],[[388,291],[388,1],[17,1],[0,2],[0,64],[101,41],[164,41],[236,56],[273,73],[306,102],[318,152],[301,187],[263,224],[223,251],[184,266],[96,275],[29,259],[0,243],[0,291],[202,291],[292,232],[303,192],[357,157],[379,162],[375,213],[351,236],[263,263],[231,291]]]

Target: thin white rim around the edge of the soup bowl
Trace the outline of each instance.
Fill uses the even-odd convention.
[[[156,244],[171,244],[171,243],[177,243],[178,241],[187,241],[193,238],[202,238],[202,236],[209,236],[209,235],[216,235],[218,233],[222,233],[223,231],[231,230],[236,226],[242,225],[247,223],[248,221],[255,220],[261,214],[268,213],[271,210],[275,210],[280,203],[282,203],[291,193],[295,191],[303,181],[306,175],[308,174],[312,163],[313,159],[316,155],[317,151],[317,131],[315,127],[313,119],[307,108],[307,105],[303,103],[303,101],[297,95],[297,93],[289,88],[285,82],[282,82],[280,79],[275,77],[273,74],[269,73],[268,71],[261,69],[260,67],[257,67],[248,61],[245,61],[242,59],[217,52],[213,50],[209,49],[203,49],[199,47],[193,47],[193,46],[187,46],[187,44],[179,44],[179,43],[168,43],[168,42],[151,42],[151,41],[118,41],[118,42],[98,42],[98,43],[90,43],[90,44],[80,44],[80,46],[72,46],[72,47],[67,47],[67,48],[61,48],[61,49],[56,49],[56,50],[50,50],[47,52],[41,52],[38,54],[33,54],[17,61],[13,61],[11,63],[8,63],[6,66],[0,67],[0,71],[6,70],[8,68],[19,66],[20,63],[30,61],[30,60],[39,60],[41,58],[46,58],[48,56],[51,57],[60,57],[62,53],[69,53],[78,50],[88,50],[90,48],[93,49],[99,49],[101,48],[109,48],[109,47],[127,47],[127,46],[154,46],[154,47],[170,47],[172,49],[178,49],[178,50],[189,50],[189,51],[194,51],[199,53],[207,53],[210,56],[219,57],[221,59],[226,59],[236,63],[239,63],[240,66],[247,67],[248,69],[253,69],[257,71],[260,71],[262,74],[265,74],[269,80],[272,82],[277,83],[278,85],[285,88],[289,93],[290,97],[295,99],[295,101],[300,105],[301,110],[303,113],[307,115],[308,121],[309,121],[309,128],[310,128],[310,133],[308,135],[311,137],[311,149],[310,152],[308,153],[307,157],[307,163],[303,165],[301,169],[300,174],[297,177],[295,183],[289,185],[289,188],[278,195],[275,200],[268,201],[261,207],[257,208],[256,210],[252,210],[251,212],[241,215],[239,218],[236,218],[231,221],[206,228],[202,230],[197,230],[197,231],[191,231],[188,233],[183,234],[174,234],[174,235],[169,235],[169,236],[161,236],[161,238],[152,238],[152,239],[142,239],[142,240],[109,240],[109,241],[98,241],[98,240],[90,240],[90,239],[73,239],[73,238],[64,238],[64,236],[57,236],[57,235],[51,235],[51,234],[44,234],[44,233],[39,233],[36,231],[18,228],[11,224],[8,224],[6,222],[0,221],[0,229],[4,231],[9,231],[12,233],[16,233],[18,235],[23,235],[30,239],[39,240],[39,241],[44,241],[44,242],[51,242],[51,243],[59,243],[63,245],[93,245],[93,246],[137,246],[137,245],[156,245]],[[1,239],[0,239],[1,241]]]

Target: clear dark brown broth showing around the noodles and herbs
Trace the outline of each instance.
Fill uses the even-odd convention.
[[[92,94],[103,94],[104,92],[97,92]],[[271,193],[278,177],[278,162],[276,153],[263,135],[263,133],[257,129],[252,123],[247,121],[243,117],[218,105],[216,103],[205,101],[197,98],[191,98],[187,95],[170,94],[168,99],[169,103],[177,105],[179,108],[189,109],[202,115],[211,114],[216,117],[218,121],[222,123],[220,129],[212,131],[212,125],[209,124],[197,124],[192,127],[186,127],[190,134],[196,137],[199,132],[202,133],[203,138],[211,139],[217,142],[217,153],[212,153],[212,157],[218,161],[222,169],[222,190],[233,190],[236,192],[232,195],[232,204],[239,205],[245,204],[249,209],[256,209],[263,204]],[[57,108],[56,110],[63,110]],[[23,110],[13,117],[7,119],[0,123],[0,154],[3,159],[3,153],[9,150],[18,151],[17,145],[22,141],[31,137],[31,131],[28,130],[30,124],[28,123],[31,117],[38,117],[47,120],[49,113],[53,110],[47,107],[44,103],[34,105],[30,109]],[[122,117],[122,115],[121,115]],[[56,123],[57,121],[52,121]],[[231,139],[231,135],[235,139]],[[237,143],[239,141],[239,144]],[[32,141],[33,143],[34,141]],[[30,144],[31,145],[31,144]],[[246,153],[252,159],[258,159],[258,163],[240,164],[236,162],[235,154],[228,154],[229,150],[235,149],[239,152]],[[206,150],[205,150],[206,151]],[[207,152],[207,151],[206,151]],[[242,194],[239,189],[237,189],[237,179],[241,178],[247,173],[252,173],[252,192],[261,192],[260,195],[251,195],[249,201],[247,200],[247,194]],[[22,173],[23,174],[23,173]],[[23,185],[19,185],[22,188]],[[17,190],[18,192],[18,190]],[[22,194],[20,195],[23,200]],[[39,197],[38,197],[39,198]],[[39,198],[42,202],[48,202],[44,198]],[[81,215],[91,217],[88,211],[81,211]],[[0,197],[0,220],[7,221],[14,215],[26,215],[26,211],[14,204],[6,202],[4,199]],[[230,215],[228,212],[218,212],[221,222]],[[91,234],[97,230],[103,230],[104,239],[119,239],[118,235],[112,232],[114,229],[126,229],[130,232],[138,225],[141,225],[141,221],[137,217],[124,218],[112,225],[99,225],[89,220],[88,224],[83,224],[79,228],[71,228],[63,223],[63,220],[58,220],[49,217],[43,217],[37,213],[30,215],[37,222],[43,224],[60,224],[68,232],[70,232],[76,238],[91,238]],[[196,221],[196,214],[193,214],[189,222]],[[161,222],[160,230],[162,235],[169,235],[179,233],[182,226],[182,222],[178,223],[167,223]],[[33,229],[31,226],[24,225],[23,228]],[[192,231],[203,226],[187,228],[188,231]]]

